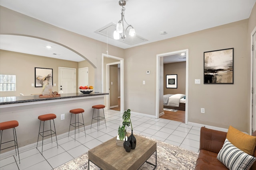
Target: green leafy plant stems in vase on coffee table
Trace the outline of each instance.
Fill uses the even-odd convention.
[[[132,121],[130,119],[130,116],[131,116],[130,109],[124,111],[123,117],[122,117],[123,118],[122,127],[120,127],[120,126],[118,127],[118,135],[119,135],[120,140],[123,140],[124,137],[127,135],[126,127],[129,127],[131,125],[131,128],[132,128]]]

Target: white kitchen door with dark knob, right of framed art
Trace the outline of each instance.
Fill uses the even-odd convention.
[[[76,93],[76,68],[59,67],[59,92]]]

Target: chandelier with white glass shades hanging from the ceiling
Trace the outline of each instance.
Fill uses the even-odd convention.
[[[130,31],[129,31],[129,35],[130,36],[135,36],[135,29],[132,27],[132,25],[128,24],[124,18],[124,12],[125,12],[125,8],[124,6],[126,5],[126,1],[125,0],[120,0],[119,5],[122,6],[121,9],[121,20],[118,21],[118,23],[116,24],[116,30],[114,31],[114,39],[120,39],[120,37],[122,39],[126,38],[126,31],[129,27]],[[126,27],[126,29],[124,29],[124,22],[128,25]]]

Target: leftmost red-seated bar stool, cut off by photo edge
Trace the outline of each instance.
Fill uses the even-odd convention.
[[[7,147],[7,148],[4,148],[4,149],[1,149],[1,145],[3,144],[2,143],[3,131],[6,130],[6,129],[11,129],[12,128],[13,138],[14,138],[14,140],[12,140],[12,141],[14,141],[14,145],[11,146],[11,147],[15,147],[15,152],[16,152],[16,156],[17,156],[17,151],[16,151],[16,146],[17,146],[18,157],[19,157],[19,162],[20,162],[20,154],[19,154],[19,149],[18,149],[18,141],[17,141],[16,129],[15,129],[15,127],[17,127],[18,125],[19,125],[19,123],[16,120],[5,121],[5,122],[1,122],[0,123],[0,131],[1,131],[0,150],[4,150],[4,149],[7,149],[7,148],[10,148],[10,147]],[[15,135],[14,135],[14,133],[15,133]],[[7,142],[4,142],[4,143],[9,143],[9,142],[12,142],[12,141],[7,141]]]

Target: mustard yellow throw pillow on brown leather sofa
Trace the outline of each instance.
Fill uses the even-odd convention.
[[[227,139],[238,149],[253,156],[256,146],[256,137],[247,135],[232,126],[229,126]]]

